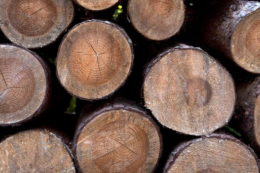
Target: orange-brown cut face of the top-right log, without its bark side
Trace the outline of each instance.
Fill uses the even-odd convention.
[[[260,8],[243,17],[235,26],[230,40],[235,63],[252,73],[260,73],[259,15]]]

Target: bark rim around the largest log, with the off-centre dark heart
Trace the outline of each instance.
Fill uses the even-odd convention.
[[[206,54],[208,54],[207,52],[205,52],[204,50],[202,50],[200,47],[193,47],[193,46],[190,46],[190,45],[186,45],[186,44],[179,43],[179,44],[175,45],[174,47],[168,48],[168,49],[164,50],[163,52],[159,53],[155,58],[153,58],[150,62],[148,62],[148,63],[145,65],[145,68],[144,68],[144,70],[143,70],[143,85],[142,85],[142,88],[141,88],[142,105],[143,105],[146,109],[148,109],[148,110],[151,112],[152,115],[153,115],[152,110],[150,110],[149,107],[146,106],[145,97],[144,97],[144,88],[145,88],[145,80],[146,80],[146,77],[148,76],[149,71],[151,70],[151,68],[152,68],[158,61],[160,61],[166,54],[168,54],[168,53],[170,53],[170,52],[173,52],[173,51],[176,51],[176,50],[196,50],[196,51],[200,51],[201,53],[206,53]],[[209,55],[209,54],[208,54],[208,55]],[[218,66],[220,66],[221,68],[223,68],[223,70],[224,70],[225,72],[227,72],[227,74],[229,75],[230,79],[232,80],[232,83],[233,83],[233,86],[234,86],[234,91],[235,91],[235,90],[236,90],[236,88],[235,88],[235,83],[234,83],[234,80],[233,80],[231,74],[227,71],[227,69],[226,69],[219,61],[217,61],[216,59],[214,59],[211,55],[209,55],[209,57],[210,57],[211,59],[213,59],[213,60],[216,62],[216,64],[218,64]],[[231,120],[232,115],[234,115],[235,106],[236,106],[236,98],[237,98],[237,96],[236,96],[236,93],[235,93],[235,103],[234,103],[234,106],[233,106],[232,114],[230,115],[228,121],[227,121],[225,124],[223,124],[222,127],[224,127],[225,125],[227,125],[228,122]],[[155,118],[154,115],[153,115],[153,117]],[[155,118],[155,119],[156,119],[156,118]],[[156,120],[157,120],[157,119],[156,119]],[[157,120],[157,121],[158,121],[158,120]],[[158,121],[158,122],[159,122],[159,121]],[[160,123],[160,122],[159,122],[159,123]],[[160,124],[161,124],[161,123],[160,123]],[[162,124],[161,124],[161,125],[162,125]],[[166,126],[164,126],[164,125],[162,125],[162,126],[163,126],[164,128],[166,127]],[[222,127],[220,127],[220,128],[222,128]],[[168,127],[166,127],[166,128],[168,128]],[[220,129],[220,128],[219,128],[219,129]],[[171,128],[168,128],[168,129],[171,129]],[[216,129],[216,130],[218,130],[218,129]],[[215,130],[215,131],[216,131],[216,130]],[[175,130],[174,130],[174,131],[175,131]],[[176,131],[176,132],[179,133],[179,134],[189,135],[189,134],[186,134],[186,133],[183,133],[183,132],[180,132],[180,131]],[[197,136],[201,136],[201,135],[197,135]]]

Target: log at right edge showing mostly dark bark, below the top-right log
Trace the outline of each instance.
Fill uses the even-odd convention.
[[[260,76],[253,81],[236,84],[236,90],[235,122],[246,142],[260,154]]]

